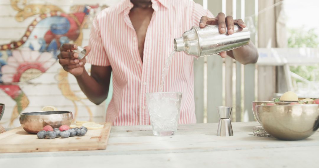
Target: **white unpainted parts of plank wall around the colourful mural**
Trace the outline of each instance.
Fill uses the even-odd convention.
[[[56,7],[61,8],[64,12],[70,13],[70,8],[74,5],[96,5],[100,6],[106,5],[111,6],[118,3],[120,0],[90,0],[89,2],[86,0],[27,0],[26,5],[32,4],[46,4],[46,5],[55,5]],[[21,1],[22,2],[22,1]],[[21,8],[24,5],[20,6]],[[98,10],[99,11],[99,10]],[[14,10],[11,6],[10,0],[0,0],[0,22],[3,23],[0,25],[0,45],[4,45],[10,43],[13,40],[21,39],[25,34],[27,27],[33,22],[33,20],[38,16],[30,16],[26,18],[22,22],[18,22],[15,18],[18,11]],[[90,23],[89,23],[90,26]],[[41,27],[40,29],[48,30],[48,26]],[[39,30],[39,27],[37,27]],[[82,46],[88,44],[88,37],[90,29],[82,29],[83,32],[83,40]],[[28,40],[36,40],[34,36],[30,36]],[[37,50],[35,48],[35,50]],[[6,61],[7,55],[5,51],[1,51],[3,54],[1,59]],[[0,66],[1,67],[1,66]],[[90,65],[86,65],[87,70],[90,69]],[[78,119],[79,120],[88,120],[89,113],[87,108],[90,108],[93,120],[94,121],[105,121],[105,105],[101,104],[96,106],[92,102],[90,102],[85,95],[81,92],[78,87],[77,81],[72,75],[65,76],[68,82],[58,81],[59,70],[61,66],[56,62],[53,64],[45,73],[41,74],[41,76],[31,79],[26,82],[16,83],[21,91],[26,95],[29,104],[22,112],[27,111],[40,111],[43,106],[53,105],[59,110],[68,110],[74,112],[75,109],[78,109]],[[0,72],[6,73],[6,72]],[[69,99],[71,96],[69,93],[66,93],[58,88],[58,84],[70,85],[70,89],[72,94],[74,94],[74,99]],[[65,87],[64,87],[65,88]],[[65,90],[64,90],[65,91]],[[70,96],[70,97],[67,97]],[[5,103],[5,113],[1,120],[3,126],[7,127],[9,125],[9,120],[11,115],[17,105],[17,102],[14,101],[8,94],[6,94],[3,90],[0,89],[0,103]],[[13,125],[11,127],[19,126],[19,116],[14,120]]]

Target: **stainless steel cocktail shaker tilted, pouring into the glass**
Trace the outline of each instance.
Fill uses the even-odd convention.
[[[250,32],[247,27],[234,25],[234,34],[219,33],[218,25],[207,25],[204,28],[192,27],[184,32],[181,38],[174,39],[175,51],[184,51],[196,58],[233,50],[249,43]]]

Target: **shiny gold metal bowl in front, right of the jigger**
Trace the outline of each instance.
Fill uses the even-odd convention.
[[[301,140],[319,127],[319,104],[257,105],[263,128],[281,140]]]

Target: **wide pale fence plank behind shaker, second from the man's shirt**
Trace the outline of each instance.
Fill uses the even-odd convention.
[[[217,16],[222,10],[222,1],[208,1],[208,10]],[[222,106],[222,66],[219,55],[207,57],[207,122],[218,122],[217,106]]]

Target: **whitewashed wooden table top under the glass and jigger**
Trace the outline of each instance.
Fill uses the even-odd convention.
[[[319,132],[301,141],[281,141],[253,136],[258,122],[232,125],[234,136],[230,137],[216,136],[218,123],[180,125],[174,136],[153,136],[151,126],[113,126],[106,150],[4,153],[0,154],[0,165],[54,167],[63,162],[63,167],[319,167]]]

